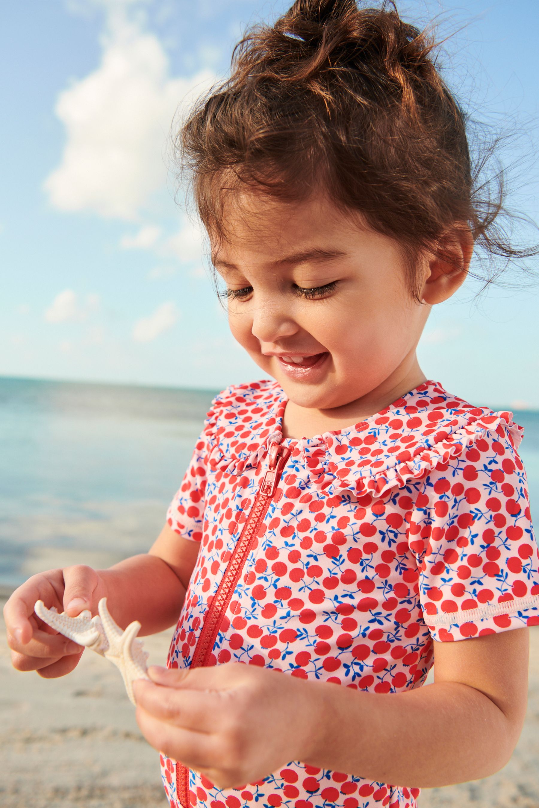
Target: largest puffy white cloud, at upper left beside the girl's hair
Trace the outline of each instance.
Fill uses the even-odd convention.
[[[191,78],[172,78],[162,42],[145,29],[138,0],[99,5],[106,19],[101,61],[58,96],[66,143],[61,165],[44,187],[61,210],[137,221],[166,183],[162,151],[175,111],[180,105],[179,122],[214,76],[201,69]]]

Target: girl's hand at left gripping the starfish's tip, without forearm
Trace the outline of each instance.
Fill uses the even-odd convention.
[[[44,679],[54,679],[73,671],[81,659],[83,646],[57,633],[34,612],[36,600],[47,608],[77,617],[83,609],[97,614],[97,605],[107,595],[105,583],[90,566],[67,566],[32,575],[15,589],[4,606],[7,644],[11,663],[17,671],[37,671]]]

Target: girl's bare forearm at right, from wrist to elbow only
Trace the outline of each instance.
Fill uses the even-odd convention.
[[[503,712],[466,684],[401,693],[313,684],[324,691],[311,706],[317,726],[305,764],[428,789],[490,776],[512,755]]]

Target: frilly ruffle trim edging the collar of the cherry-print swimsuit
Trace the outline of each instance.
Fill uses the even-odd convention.
[[[358,497],[368,494],[381,497],[395,487],[401,488],[407,482],[423,478],[429,471],[448,463],[453,457],[459,457],[465,448],[493,432],[498,432],[500,437],[507,434],[512,446],[518,448],[524,435],[524,427],[516,424],[512,412],[507,410],[471,416],[467,423],[454,431],[441,428],[434,432],[429,436],[430,443],[423,442],[412,451],[405,448],[396,455],[378,458],[373,462],[383,465],[377,469],[373,465],[368,468],[343,465],[343,457],[335,452],[335,445],[338,444],[321,445],[311,449],[309,453],[304,450],[303,455],[310,479],[317,490],[325,494],[340,494],[351,490]],[[262,439],[262,442],[257,441],[256,445],[250,446],[246,442],[240,444],[237,454],[231,454],[228,444],[221,445],[217,439],[208,458],[209,465],[213,469],[234,475],[242,474],[247,468],[257,468],[267,455],[269,445],[273,441],[280,443],[282,434],[280,431],[267,429],[266,435],[262,433],[258,439]],[[297,457],[299,454],[301,447],[293,452],[293,456]],[[348,454],[347,462],[351,459],[354,459],[354,455],[351,457]],[[364,463],[364,456],[360,452],[356,454],[356,461]]]

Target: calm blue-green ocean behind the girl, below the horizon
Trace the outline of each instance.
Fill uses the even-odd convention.
[[[215,393],[0,377],[0,586],[145,553]],[[514,412],[539,519],[539,411]]]

